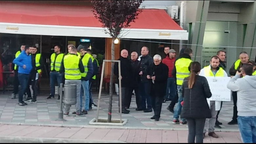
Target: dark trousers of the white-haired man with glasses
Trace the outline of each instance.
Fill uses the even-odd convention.
[[[154,110],[154,116],[160,118],[164,96],[159,96],[158,92],[152,92],[151,94],[151,105]]]

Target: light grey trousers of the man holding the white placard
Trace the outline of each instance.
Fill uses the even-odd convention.
[[[208,133],[214,132],[214,126],[216,122],[216,116],[218,111],[215,111],[215,101],[210,101],[210,111],[211,111],[211,118],[206,118],[203,133],[206,133],[208,129]]]

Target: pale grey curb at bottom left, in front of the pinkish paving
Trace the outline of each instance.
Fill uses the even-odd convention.
[[[0,135],[0,143],[126,143],[123,141]]]

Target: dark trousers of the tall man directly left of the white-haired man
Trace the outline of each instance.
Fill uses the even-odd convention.
[[[140,106],[142,109],[146,109],[146,101],[147,101],[147,109],[151,110],[151,100],[149,96],[149,82],[139,83],[139,94],[141,96]]]

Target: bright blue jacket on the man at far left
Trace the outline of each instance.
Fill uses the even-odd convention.
[[[31,55],[27,55],[25,50],[21,52],[21,54],[13,60],[14,64],[19,66],[18,73],[20,74],[30,74],[32,70],[32,63],[31,63]],[[23,65],[26,65],[26,68],[23,68]]]

